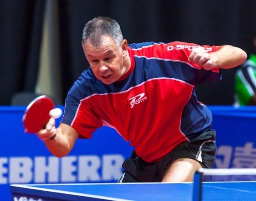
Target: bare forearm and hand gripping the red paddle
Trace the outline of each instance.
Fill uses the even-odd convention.
[[[54,135],[56,135],[55,138],[50,139],[50,136]],[[55,119],[53,118],[47,123],[46,128],[38,133],[38,137],[44,141],[48,150],[57,157],[63,157],[70,153],[78,136],[79,134],[70,125],[62,123],[55,128]]]

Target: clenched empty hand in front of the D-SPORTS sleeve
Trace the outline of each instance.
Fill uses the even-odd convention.
[[[206,70],[212,69],[214,65],[211,55],[202,47],[196,48],[194,51],[192,51],[188,60],[189,62],[194,62],[200,65]]]

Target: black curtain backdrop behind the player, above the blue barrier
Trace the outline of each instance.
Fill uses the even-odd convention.
[[[56,0],[62,77],[61,102],[88,67],[81,48],[85,23],[108,16],[133,42],[193,42],[235,45],[252,51],[256,0]],[[0,105],[10,105],[20,91],[35,91],[46,0],[0,1]],[[196,88],[207,105],[232,105],[236,68],[223,71],[221,82]]]

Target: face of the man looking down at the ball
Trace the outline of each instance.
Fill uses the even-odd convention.
[[[104,84],[109,85],[116,82],[126,72],[124,67],[126,51],[117,47],[112,37],[102,37],[99,48],[87,40],[84,44],[84,54],[93,74]]]

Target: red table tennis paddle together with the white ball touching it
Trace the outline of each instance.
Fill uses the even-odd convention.
[[[54,108],[54,102],[47,96],[39,96],[26,108],[23,125],[26,133],[38,133],[50,118],[58,119],[62,115],[60,108]]]

